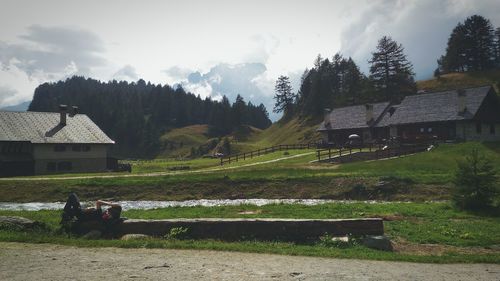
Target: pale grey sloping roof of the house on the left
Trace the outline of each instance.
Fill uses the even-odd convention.
[[[59,113],[0,111],[0,141],[115,143],[85,114],[67,115],[65,126],[59,120]]]

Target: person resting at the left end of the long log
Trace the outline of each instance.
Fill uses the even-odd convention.
[[[102,206],[109,206],[109,208],[103,211]],[[97,200],[95,208],[82,209],[78,196],[71,193],[64,205],[61,224],[70,222],[74,218],[76,218],[77,222],[97,221],[109,224],[119,221],[121,212],[122,207],[120,204],[103,200]]]

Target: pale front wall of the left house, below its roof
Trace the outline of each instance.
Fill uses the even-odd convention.
[[[106,170],[106,145],[89,144],[89,151],[73,151],[73,144],[65,144],[65,151],[55,151],[55,146],[56,144],[33,145],[35,174],[101,172]],[[71,163],[71,169],[59,169],[61,162]],[[52,169],[49,168],[50,165],[52,165]]]

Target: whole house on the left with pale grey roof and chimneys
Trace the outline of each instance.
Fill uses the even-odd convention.
[[[59,113],[0,111],[0,176],[102,172],[114,144],[77,107]]]

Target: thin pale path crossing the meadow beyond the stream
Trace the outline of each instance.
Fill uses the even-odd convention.
[[[239,166],[231,167],[217,167],[217,168],[204,168],[194,171],[180,171],[180,172],[154,172],[154,173],[143,173],[143,174],[121,174],[121,175],[92,175],[92,176],[68,176],[68,177],[14,177],[14,178],[0,178],[0,181],[41,181],[41,180],[82,180],[82,179],[106,179],[106,178],[135,178],[135,177],[157,177],[157,176],[168,176],[168,175],[182,175],[182,174],[196,174],[196,173],[210,173],[223,170],[239,169],[244,167],[251,167],[263,164],[269,164],[274,162],[279,162],[283,160],[293,159],[297,157],[302,157],[306,155],[311,155],[314,152],[302,153],[287,157],[281,157],[277,159],[260,161],[255,163],[243,164]]]

